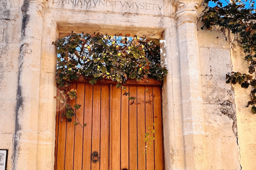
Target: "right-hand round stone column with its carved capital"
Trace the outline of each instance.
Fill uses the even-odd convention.
[[[185,169],[206,168],[206,138],[197,37],[202,0],[174,0],[180,58]]]

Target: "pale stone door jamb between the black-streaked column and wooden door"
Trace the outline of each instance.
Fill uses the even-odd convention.
[[[44,30],[41,50],[41,73],[38,116],[38,169],[54,169],[56,82],[55,70],[57,52],[52,41],[57,40],[57,23],[49,15],[44,15]],[[57,146],[56,146],[57,147]]]

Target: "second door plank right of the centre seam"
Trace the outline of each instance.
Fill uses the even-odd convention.
[[[121,169],[129,169],[129,100],[123,95],[125,91],[128,92],[129,87],[121,93]]]

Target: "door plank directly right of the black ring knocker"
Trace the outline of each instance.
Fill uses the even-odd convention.
[[[109,159],[109,86],[101,86],[100,170],[108,170]]]

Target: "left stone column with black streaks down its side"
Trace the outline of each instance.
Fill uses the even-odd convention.
[[[39,75],[43,0],[24,0],[17,105],[12,154],[14,170],[37,169]]]

